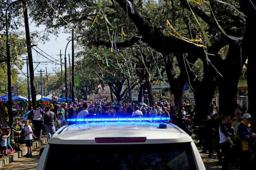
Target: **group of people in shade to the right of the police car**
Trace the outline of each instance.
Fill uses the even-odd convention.
[[[200,141],[198,144],[203,146],[201,153],[208,153],[210,159],[217,156],[222,170],[254,169],[255,134],[250,128],[251,120],[249,113],[243,114],[239,109],[235,110],[233,118],[218,113],[208,116],[201,126],[194,128]]]

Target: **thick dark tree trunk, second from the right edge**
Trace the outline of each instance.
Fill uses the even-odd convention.
[[[242,48],[244,44],[242,43]],[[240,58],[240,50],[238,43],[229,44],[229,52],[224,61],[218,62],[218,69],[223,77],[217,75],[217,85],[219,88],[219,112],[226,116],[234,116],[237,109],[237,85],[241,76],[243,65],[246,61],[246,51],[242,50],[242,58]],[[219,60],[222,60],[219,57]],[[228,68],[228,69],[227,69]]]

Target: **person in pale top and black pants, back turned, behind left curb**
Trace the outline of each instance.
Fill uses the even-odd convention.
[[[40,140],[40,133],[43,126],[43,115],[44,115],[42,103],[38,103],[37,108],[33,110],[33,114],[34,114],[33,124],[35,126],[36,140]]]

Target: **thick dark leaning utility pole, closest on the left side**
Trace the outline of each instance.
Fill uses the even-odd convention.
[[[30,40],[30,32],[29,32],[29,24],[28,24],[28,11],[26,7],[26,2],[23,1],[23,15],[25,21],[25,31],[26,31],[26,42],[27,42],[27,51],[28,51],[28,64],[29,64],[29,74],[30,74],[30,88],[31,88],[31,98],[32,98],[32,106],[36,108],[36,94],[34,87],[34,67],[33,67],[33,58],[31,51],[31,40]]]

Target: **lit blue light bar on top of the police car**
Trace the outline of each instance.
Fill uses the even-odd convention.
[[[116,122],[116,121],[155,121],[170,120],[170,117],[162,118],[93,118],[93,119],[67,119],[69,122]]]

